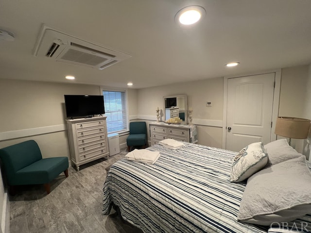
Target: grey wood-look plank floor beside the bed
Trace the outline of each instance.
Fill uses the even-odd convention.
[[[11,233],[141,233],[114,210],[102,215],[105,167],[122,159],[126,151],[101,159],[80,171],[69,167],[51,183],[51,193],[43,185],[21,186],[10,199]]]

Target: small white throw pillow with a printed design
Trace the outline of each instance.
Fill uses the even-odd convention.
[[[268,157],[262,142],[255,142],[243,148],[233,159],[230,182],[240,182],[259,171],[267,164]]]

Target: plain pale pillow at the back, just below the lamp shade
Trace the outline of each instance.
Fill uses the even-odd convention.
[[[282,163],[284,161],[303,156],[288,145],[287,140],[279,139],[264,145],[264,149],[268,154],[267,166]]]

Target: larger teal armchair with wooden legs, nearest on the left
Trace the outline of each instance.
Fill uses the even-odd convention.
[[[25,141],[0,149],[1,167],[4,171],[10,194],[14,195],[16,185],[44,184],[51,192],[50,182],[60,173],[68,177],[68,158],[42,158],[34,140]]]

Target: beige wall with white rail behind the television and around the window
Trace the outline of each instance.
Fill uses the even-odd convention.
[[[0,79],[0,148],[34,139],[44,158],[67,156],[70,159],[65,94],[100,95],[101,92],[96,85]],[[128,99],[130,115],[135,117],[137,90],[129,90]],[[124,140],[126,135],[121,136],[121,142]],[[5,217],[2,211],[6,209],[6,197],[0,176],[0,220]]]

